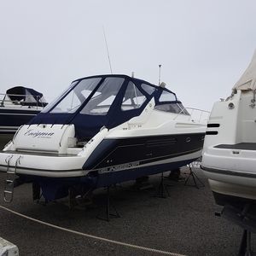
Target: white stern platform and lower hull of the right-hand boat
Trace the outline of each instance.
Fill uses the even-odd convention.
[[[205,148],[201,168],[217,204],[256,203],[254,149],[255,143],[219,144]]]

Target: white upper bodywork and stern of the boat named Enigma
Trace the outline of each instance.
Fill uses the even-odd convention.
[[[150,112],[148,108],[151,110]],[[73,125],[23,125],[15,136],[14,142],[4,148],[4,151],[0,154],[0,171],[6,172],[9,168],[9,170],[15,169],[18,174],[40,177],[81,177],[92,171],[90,169],[83,170],[84,162],[106,139],[125,139],[129,141],[136,137],[138,139],[141,137],[150,138],[154,136],[154,133],[159,136],[165,136],[169,133],[173,137],[191,137],[198,134],[203,139],[205,125],[188,121],[188,117],[184,115],[175,119],[177,117],[175,113],[168,113],[168,116],[172,116],[172,119],[163,123],[162,119],[166,119],[166,113],[161,113],[152,107],[148,108],[146,108],[148,118],[145,119],[145,116],[143,116],[143,120],[131,119],[129,122],[109,131],[108,129],[102,129],[90,142],[86,143],[84,148],[73,147],[75,134]],[[149,119],[149,116],[152,118]],[[124,127],[127,128],[124,129]],[[191,143],[193,142],[188,144]],[[166,152],[166,155],[169,156],[166,156],[163,160],[160,157],[155,159],[151,157],[150,162],[139,166],[125,161],[122,166],[111,166],[111,172],[113,170],[136,169],[138,167],[194,160],[201,156],[201,148],[196,152],[195,150],[189,152],[186,151],[186,148],[183,148],[183,155],[180,156],[172,154],[172,152]],[[137,162],[142,163],[143,161],[144,159],[137,160]],[[37,164],[35,165],[35,163]],[[97,168],[94,168],[94,171],[108,172]]]

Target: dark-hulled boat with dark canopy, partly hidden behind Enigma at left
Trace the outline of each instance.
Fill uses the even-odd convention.
[[[0,94],[0,148],[14,137],[20,125],[36,116],[46,104],[42,93],[23,86]]]

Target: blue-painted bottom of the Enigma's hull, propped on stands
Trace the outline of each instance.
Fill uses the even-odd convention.
[[[124,170],[115,170],[112,172],[90,171],[84,172],[81,170],[82,176],[65,177],[65,173],[61,172],[60,177],[43,177],[26,174],[18,174],[22,183],[32,182],[37,183],[42,189],[42,194],[47,201],[54,201],[68,195],[70,188],[78,195],[83,195],[86,191],[110,186],[115,183],[135,180],[138,177],[154,175],[160,172],[175,170],[181,166],[185,166],[190,162],[198,159],[201,156],[201,150],[192,154],[186,154],[169,160],[157,161],[150,166],[137,166]],[[19,168],[17,168],[19,173]],[[35,172],[33,172],[35,173]],[[73,174],[72,174],[73,175]]]

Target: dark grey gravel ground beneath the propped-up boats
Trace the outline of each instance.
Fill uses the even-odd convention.
[[[187,172],[186,168],[183,172]],[[205,183],[204,188],[168,181],[170,196],[165,199],[153,196],[160,175],[150,177],[152,189],[136,190],[133,183],[122,183],[111,190],[121,218],[112,218],[110,222],[96,218],[99,212],[104,213],[104,189],[96,192],[92,205],[69,209],[67,200],[46,206],[34,203],[31,184],[23,184],[15,188],[14,201],[7,204],[3,202],[3,173],[0,205],[50,224],[142,247],[196,256],[237,255],[241,228],[214,216],[219,207],[214,205],[201,170],[195,173]],[[20,255],[160,255],[55,230],[3,209],[0,216],[0,236],[17,245]],[[254,235],[252,240],[255,248]]]

